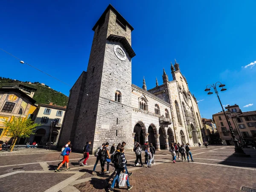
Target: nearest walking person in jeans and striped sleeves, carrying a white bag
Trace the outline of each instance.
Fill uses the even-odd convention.
[[[125,154],[124,154],[124,148],[120,147],[120,152],[116,152],[114,154],[114,166],[116,168],[116,176],[113,179],[112,185],[111,187],[108,189],[109,192],[113,192],[116,180],[119,178],[119,175],[121,172],[125,173]],[[129,178],[127,177],[126,180],[126,184],[127,184],[127,190],[131,190],[132,189],[132,185],[130,185],[129,183]]]

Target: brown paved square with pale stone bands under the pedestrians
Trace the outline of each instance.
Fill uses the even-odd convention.
[[[0,157],[0,192],[108,191],[108,175],[91,174],[96,160],[93,155],[87,160],[88,166],[83,167],[77,163],[82,154],[71,153],[70,171],[55,173],[62,160],[58,159],[60,152],[37,150]],[[195,162],[177,160],[175,164],[169,151],[161,150],[156,152],[152,168],[134,167],[134,152],[125,152],[128,171],[133,172],[131,192],[239,192],[241,186],[256,189],[256,151],[244,149],[250,158],[232,156],[233,151],[233,146],[193,147]],[[96,172],[100,170],[98,164]],[[113,170],[110,166],[109,171]]]

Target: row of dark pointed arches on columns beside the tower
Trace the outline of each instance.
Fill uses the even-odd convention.
[[[146,141],[148,141],[148,143],[152,143],[157,150],[169,149],[169,143],[175,142],[175,137],[171,128],[168,128],[166,132],[166,129],[160,126],[157,131],[156,126],[154,124],[150,124],[147,130],[148,131],[146,131],[146,127],[143,122],[137,122],[134,126],[134,143],[140,143],[142,148]]]

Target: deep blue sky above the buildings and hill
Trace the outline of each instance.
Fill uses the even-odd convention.
[[[256,110],[256,1],[44,0],[3,1],[0,6],[0,48],[73,85],[87,70],[93,26],[111,3],[134,27],[132,83],[148,89],[162,84],[163,67],[171,79],[176,58],[201,116],[221,111],[207,84],[221,81],[223,105]],[[68,95],[70,87],[0,50],[0,76],[39,81]],[[249,65],[248,67],[245,67]],[[253,104],[249,107],[245,105]]]

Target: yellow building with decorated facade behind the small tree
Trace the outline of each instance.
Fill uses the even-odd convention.
[[[36,89],[20,84],[19,87],[3,86],[0,88],[0,140],[10,141],[7,130],[3,125],[4,119],[10,121],[12,116],[28,118],[37,108],[33,95]],[[17,143],[24,143],[20,138]]]

